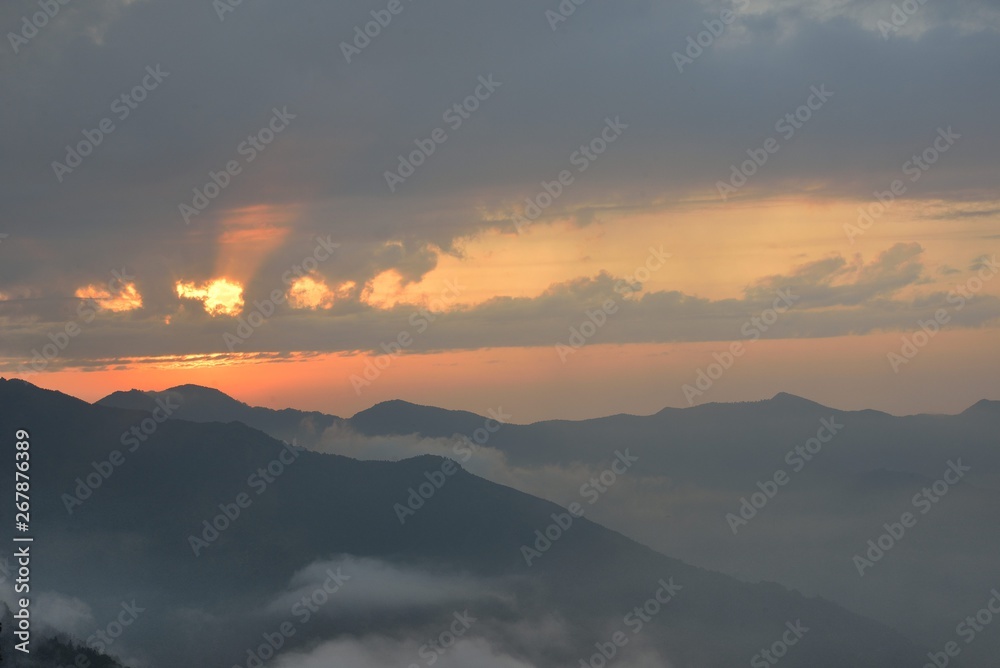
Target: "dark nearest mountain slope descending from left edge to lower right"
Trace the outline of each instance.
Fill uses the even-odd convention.
[[[488,646],[502,665],[576,666],[603,647],[644,668],[713,668],[782,636],[796,643],[789,667],[921,661],[828,601],[690,566],[440,457],[358,461],[238,422],[173,419],[133,443],[147,413],[18,381],[0,381],[0,405],[0,433],[30,433],[45,591],[96,619],[140,606],[123,642],[154,666],[245,665],[283,623],[282,666],[338,642],[417,652],[471,617],[474,640],[455,651]]]

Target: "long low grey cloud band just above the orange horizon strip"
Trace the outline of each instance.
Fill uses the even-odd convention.
[[[380,345],[395,341],[402,332],[412,338],[407,352],[554,346],[568,339],[571,325],[579,326],[589,310],[608,300],[614,300],[617,310],[608,316],[595,342],[731,341],[744,336],[741,329],[751,318],[773,306],[779,291],[796,301],[773,326],[759,332],[762,338],[908,331],[918,320],[947,307],[946,291],[924,288],[930,274],[923,252],[919,244],[901,243],[870,262],[860,256],[831,255],[764,277],[748,286],[740,299],[712,300],[678,291],[646,292],[636,298],[630,283],[602,272],[554,284],[537,297],[495,297],[475,306],[454,307],[433,314],[433,320],[417,307],[402,304],[360,310],[341,304],[320,312],[276,309],[271,320],[282,326],[256,329],[238,354],[276,350],[381,354]],[[253,298],[248,295],[247,303]],[[956,312],[949,326],[980,327],[998,316],[1000,299],[982,294]],[[0,354],[8,357],[8,369],[30,359],[32,349],[48,343],[53,327],[64,324],[39,322],[26,313],[9,317],[19,329],[0,346]],[[223,334],[235,332],[237,324],[234,318],[204,312],[178,313],[169,324],[150,317],[102,315],[81,325],[86,336],[75,339],[48,368],[93,364],[91,360],[110,357],[219,353]]]

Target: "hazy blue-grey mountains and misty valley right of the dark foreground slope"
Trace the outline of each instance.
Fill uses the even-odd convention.
[[[481,444],[467,468],[557,503],[578,498],[581,483],[628,449],[639,465],[601,496],[592,519],[688,563],[822,595],[901,629],[914,642],[930,638],[943,645],[953,639],[955,620],[979,610],[995,586],[998,405],[982,401],[958,415],[898,417],[779,393],[648,416],[509,423],[480,439],[489,416],[390,401],[344,420],[321,447],[402,459],[454,454],[457,434]],[[824,424],[841,425],[826,444],[816,440],[830,436]],[[800,454],[815,446],[821,446],[815,453]],[[949,462],[971,471],[940,503],[915,506],[914,498],[942,479]],[[778,471],[789,476],[788,484],[734,532],[724,518]],[[852,556],[905,511],[920,525],[885,566],[859,577]],[[956,563],[964,567],[953,577],[939,576]],[[997,654],[1000,636],[980,634],[963,660],[989,665]]]

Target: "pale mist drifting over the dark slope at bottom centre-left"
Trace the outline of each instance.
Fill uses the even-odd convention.
[[[339,589],[328,592],[331,577]],[[160,610],[156,638],[165,629],[192,643],[213,639],[208,651],[214,662],[241,665],[259,651],[262,639],[284,628],[285,638],[269,664],[282,668],[308,666],[495,666],[524,668],[556,665],[552,652],[572,651],[571,629],[545,610],[541,602],[525,602],[523,587],[410,564],[344,555],[310,563],[297,571],[287,587],[257,604],[244,602],[228,610]],[[302,597],[312,605],[299,603]],[[152,633],[152,629],[147,629]],[[176,645],[151,642],[154,663],[184,656]],[[199,645],[200,646],[200,645]],[[241,649],[242,648],[242,649]],[[531,658],[536,657],[536,658]],[[540,657],[540,658],[537,658]],[[330,663],[330,662],[333,663]],[[660,665],[660,664],[648,664]]]

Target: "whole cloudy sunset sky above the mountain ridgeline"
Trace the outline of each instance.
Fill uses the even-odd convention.
[[[994,0],[18,0],[0,28],[4,376],[517,422],[1000,398]]]

